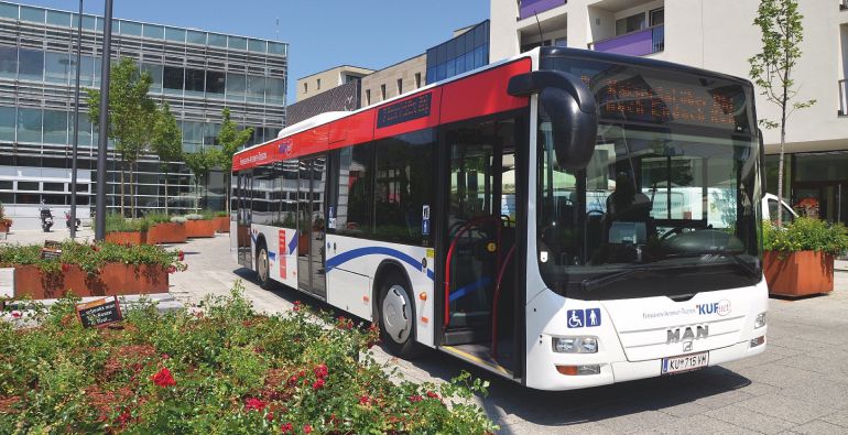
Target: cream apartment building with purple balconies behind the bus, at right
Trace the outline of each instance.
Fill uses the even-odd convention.
[[[848,0],[802,0],[803,57],[790,118],[784,196],[807,199],[830,221],[848,221]],[[539,45],[645,56],[748,77],[761,50],[757,0],[491,0],[492,62]],[[762,96],[758,117],[779,120]],[[767,188],[776,191],[780,132],[765,130]]]

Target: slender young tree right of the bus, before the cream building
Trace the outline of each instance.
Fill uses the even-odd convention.
[[[778,163],[778,200],[783,199],[783,157],[786,143],[786,121],[795,110],[813,106],[816,100],[795,101],[800,88],[795,86],[792,70],[801,58],[801,42],[804,28],[796,0],[760,0],[760,7],[753,23],[762,33],[762,52],[748,59],[751,64],[751,78],[760,88],[760,94],[775,104],[781,110],[780,122],[761,119],[767,129],[781,129],[780,161]],[[778,215],[778,226],[783,225]]]

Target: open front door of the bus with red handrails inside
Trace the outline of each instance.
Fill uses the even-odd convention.
[[[450,152],[443,349],[514,363],[515,159],[512,123],[447,131]]]

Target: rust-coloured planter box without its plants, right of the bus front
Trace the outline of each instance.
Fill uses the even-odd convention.
[[[806,296],[834,290],[834,257],[816,251],[786,253],[765,251],[763,273],[769,294]]]

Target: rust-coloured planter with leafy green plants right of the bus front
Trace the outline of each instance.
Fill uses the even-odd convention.
[[[848,250],[840,224],[800,217],[785,227],[763,224],[763,273],[769,293],[806,296],[834,290],[834,258]]]

